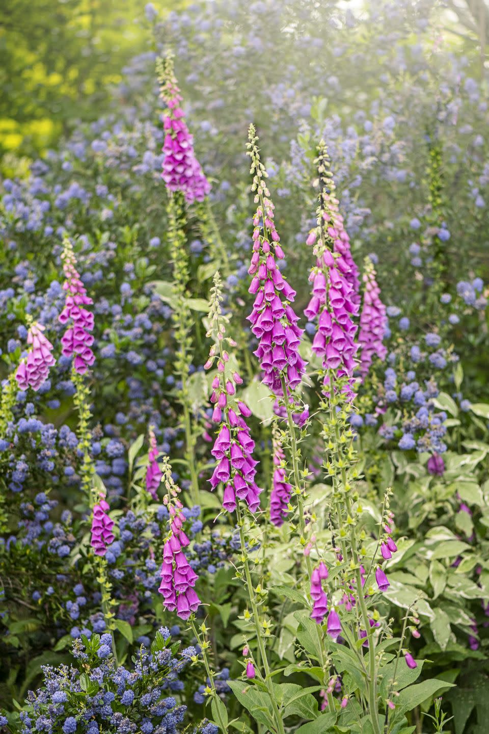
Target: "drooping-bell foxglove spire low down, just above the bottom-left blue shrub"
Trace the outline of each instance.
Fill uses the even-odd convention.
[[[170,528],[163,545],[161,584],[158,591],[163,595],[163,606],[169,611],[176,611],[180,619],[188,619],[200,604],[200,599],[194,589],[199,577],[183,553],[183,548],[190,545],[190,540],[182,529],[185,516],[182,512],[183,504],[178,498],[180,487],[177,487],[172,479],[172,467],[168,457],[163,457],[161,475],[166,487],[163,504],[170,515]]]

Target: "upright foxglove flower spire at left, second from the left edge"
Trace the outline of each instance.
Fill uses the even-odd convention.
[[[63,290],[66,291],[65,308],[59,314],[58,320],[61,324],[73,322],[61,338],[63,345],[62,354],[65,357],[74,355],[74,366],[78,374],[84,374],[89,366],[95,362],[95,355],[90,347],[93,344],[93,313],[84,306],[91,305],[92,299],[87,296],[87,290],[80,280],[80,274],[76,270],[76,259],[73,247],[68,239],[65,239],[62,253],[63,272],[65,283]]]

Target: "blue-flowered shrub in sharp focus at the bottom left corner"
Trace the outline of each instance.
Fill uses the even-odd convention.
[[[160,628],[129,669],[114,664],[109,633],[76,639],[76,666],[43,666],[44,685],[29,691],[21,733],[177,734],[187,707],[168,691],[180,690],[174,684],[188,664],[177,648],[169,630]]]

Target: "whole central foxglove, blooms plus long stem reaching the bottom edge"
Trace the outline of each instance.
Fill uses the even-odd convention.
[[[226,325],[229,319],[221,312],[222,299],[221,277],[216,273],[210,297],[210,330],[207,332],[207,336],[213,338],[214,344],[210,349],[209,359],[205,363],[207,369],[210,369],[214,363],[217,366],[211,401],[214,404],[213,420],[220,426],[212,450],[218,463],[210,483],[213,489],[216,489],[219,484],[224,487],[223,507],[227,512],[236,512],[240,535],[240,565],[236,573],[238,578],[243,579],[248,592],[251,611],[246,609],[244,619],[254,626],[260,651],[261,663],[260,666],[257,666],[257,672],[254,670],[254,675],[257,673],[270,697],[276,732],[284,734],[284,724],[273,691],[271,667],[266,648],[266,639],[270,637],[272,625],[265,614],[260,617],[260,607],[265,601],[265,591],[260,584],[253,586],[249,542],[246,537],[246,525],[248,522],[254,523],[252,513],[256,512],[260,506],[259,495],[262,491],[254,481],[255,467],[258,462],[251,456],[254,441],[251,439],[249,427],[246,424],[246,418],[251,415],[251,410],[235,394],[236,386],[243,381],[229,368],[229,354],[224,345],[235,347],[236,343],[226,336]]]

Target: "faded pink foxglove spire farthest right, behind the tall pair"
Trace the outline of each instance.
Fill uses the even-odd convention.
[[[360,367],[361,379],[365,379],[374,357],[385,360],[387,348],[383,344],[386,332],[386,307],[380,300],[380,288],[375,280],[375,270],[372,261],[365,258],[364,302],[360,315]]]

